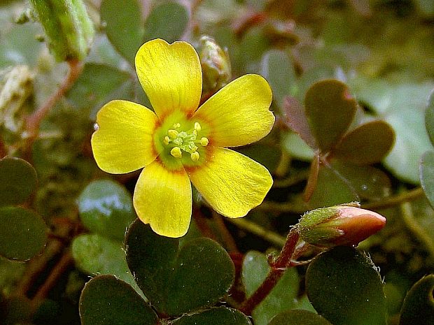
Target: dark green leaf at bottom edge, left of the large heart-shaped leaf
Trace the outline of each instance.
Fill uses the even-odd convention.
[[[82,325],[154,325],[157,315],[132,287],[113,275],[86,283],[80,296]]]

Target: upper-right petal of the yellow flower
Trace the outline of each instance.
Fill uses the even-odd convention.
[[[210,140],[218,147],[247,145],[271,131],[274,115],[269,111],[272,91],[260,75],[243,75],[206,101],[194,117],[209,127]],[[205,128],[205,127],[204,127]]]

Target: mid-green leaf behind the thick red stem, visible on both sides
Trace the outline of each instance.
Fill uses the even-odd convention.
[[[247,296],[262,284],[269,273],[267,257],[260,252],[248,252],[242,266],[242,280]],[[255,325],[267,325],[274,315],[283,310],[294,308],[297,303],[298,275],[295,268],[288,268],[279,282],[256,308],[252,317]]]

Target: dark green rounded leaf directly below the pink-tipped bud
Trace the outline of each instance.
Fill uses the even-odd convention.
[[[334,325],[386,325],[383,283],[372,261],[351,247],[318,255],[306,273],[307,296]]]

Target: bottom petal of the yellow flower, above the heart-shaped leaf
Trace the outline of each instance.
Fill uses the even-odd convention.
[[[181,237],[191,218],[191,184],[186,171],[168,171],[160,161],[146,166],[134,189],[134,208],[139,219],[155,233]]]

